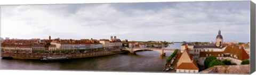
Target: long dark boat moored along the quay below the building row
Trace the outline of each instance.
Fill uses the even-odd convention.
[[[69,58],[67,57],[43,57],[41,59],[42,62],[57,62],[57,61],[67,61]]]

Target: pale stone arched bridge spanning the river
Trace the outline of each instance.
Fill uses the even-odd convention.
[[[175,50],[172,49],[164,49],[164,46],[162,46],[162,49],[159,48],[125,48],[122,50],[129,51],[132,54],[135,54],[137,51],[143,51],[143,50],[151,50],[151,51],[156,51],[161,54],[161,56],[165,56],[165,52],[174,52]]]

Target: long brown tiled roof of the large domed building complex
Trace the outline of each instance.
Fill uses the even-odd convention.
[[[245,59],[249,59],[249,54],[246,53],[246,51],[244,50],[244,48],[240,48],[239,46],[227,46],[227,48],[223,51],[223,52],[200,52],[199,57],[206,57],[206,54],[211,54],[214,55],[215,57],[218,57],[218,54],[225,54],[225,53],[230,53],[233,54],[232,58],[234,58],[234,55],[237,55],[237,59],[238,60],[245,60]]]

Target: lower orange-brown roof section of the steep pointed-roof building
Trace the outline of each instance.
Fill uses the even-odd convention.
[[[197,65],[194,63],[181,63],[177,69],[190,69],[190,70],[199,70]]]

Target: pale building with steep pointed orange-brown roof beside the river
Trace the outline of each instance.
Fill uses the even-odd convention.
[[[197,73],[199,68],[196,61],[188,51],[188,45],[185,46],[183,53],[180,53],[180,58],[177,63],[177,73]]]

